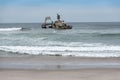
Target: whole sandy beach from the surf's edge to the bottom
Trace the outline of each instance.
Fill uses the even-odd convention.
[[[108,64],[106,65],[105,63]],[[120,58],[62,56],[0,57],[0,79],[120,80],[119,63]]]

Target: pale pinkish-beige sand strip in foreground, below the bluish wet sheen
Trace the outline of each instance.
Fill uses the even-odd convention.
[[[0,69],[1,80],[120,80],[120,69],[18,70]]]

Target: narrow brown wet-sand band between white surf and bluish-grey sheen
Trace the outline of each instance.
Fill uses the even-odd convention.
[[[61,61],[106,61],[120,62],[120,57],[75,57],[75,56],[48,56],[48,55],[15,55],[15,56],[0,56],[0,61],[37,61],[37,60],[61,60]]]

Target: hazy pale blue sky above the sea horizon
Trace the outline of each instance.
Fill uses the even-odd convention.
[[[0,0],[0,23],[43,22],[120,22],[120,0]]]

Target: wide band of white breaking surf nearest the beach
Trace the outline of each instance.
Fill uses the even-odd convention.
[[[64,47],[64,46],[0,46],[0,50],[17,54],[120,57],[120,46]]]

